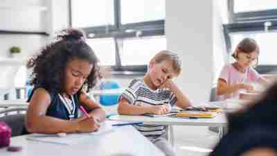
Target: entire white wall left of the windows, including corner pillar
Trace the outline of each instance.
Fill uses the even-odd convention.
[[[51,42],[55,32],[69,26],[69,0],[1,0],[0,6],[2,6],[0,30],[46,31],[50,34],[50,36],[0,34],[0,57],[10,57],[11,46],[20,46],[23,57],[32,55],[46,43]],[[46,10],[39,10],[41,8],[33,6],[43,6]]]

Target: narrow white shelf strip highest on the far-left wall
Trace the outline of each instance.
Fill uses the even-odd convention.
[[[0,3],[0,10],[5,9],[5,10],[37,10],[37,11],[46,11],[47,7],[46,6],[34,6],[34,5],[26,5],[26,6],[19,6],[19,5],[7,5],[4,3]]]

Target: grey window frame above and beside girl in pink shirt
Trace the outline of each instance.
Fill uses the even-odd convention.
[[[234,12],[234,0],[228,0],[229,24],[223,24],[224,38],[226,41],[227,53],[231,51],[231,34],[232,33],[262,33],[265,32],[265,22],[270,21],[269,31],[277,31],[277,9]],[[276,65],[260,64],[256,67],[259,73],[268,73],[273,71],[277,73]]]

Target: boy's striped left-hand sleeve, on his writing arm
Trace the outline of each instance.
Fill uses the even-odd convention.
[[[139,87],[141,87],[141,84],[142,83],[139,80],[132,80],[129,87],[125,89],[120,98],[125,98],[130,104],[134,105],[137,98],[137,91],[139,90]]]

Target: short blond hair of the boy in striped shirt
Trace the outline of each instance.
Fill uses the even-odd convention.
[[[171,51],[160,51],[151,59],[156,63],[163,62],[164,60],[168,60],[172,62],[172,69],[175,71],[177,76],[181,73],[181,60],[176,53],[172,53]]]

